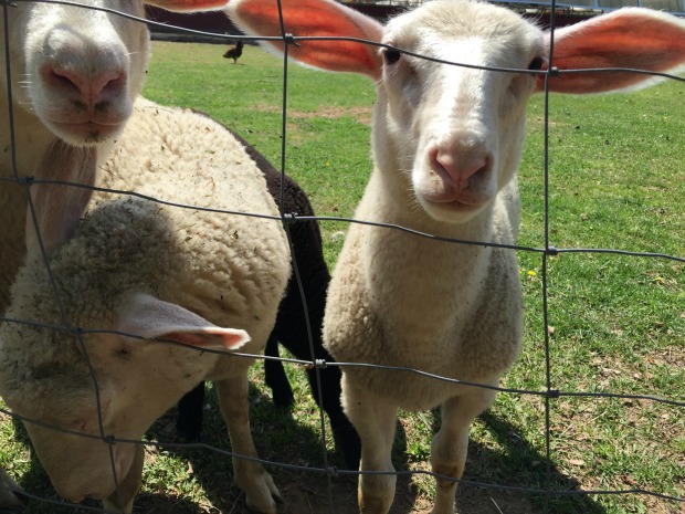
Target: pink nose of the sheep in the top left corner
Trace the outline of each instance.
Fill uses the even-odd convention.
[[[126,73],[117,70],[88,72],[74,67],[45,65],[43,77],[52,87],[67,94],[74,105],[102,111],[124,93]]]

